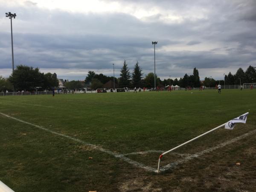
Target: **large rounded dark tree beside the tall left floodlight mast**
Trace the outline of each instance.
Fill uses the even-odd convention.
[[[44,74],[39,72],[39,68],[25,65],[18,65],[9,81],[14,85],[15,90],[35,90],[35,87],[44,86]]]

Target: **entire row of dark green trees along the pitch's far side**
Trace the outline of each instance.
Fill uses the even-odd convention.
[[[116,88],[120,87],[154,87],[154,73],[148,73],[143,77],[142,68],[137,61],[132,72],[128,68],[128,64],[124,60],[120,70],[120,77],[115,78]],[[256,67],[249,66],[244,72],[239,68],[236,74],[229,72],[225,75],[225,84],[241,84],[256,82]],[[113,76],[105,76],[104,74],[96,74],[89,71],[84,81],[68,81],[65,80],[64,86],[67,89],[83,89],[90,87],[92,89],[102,88],[108,81],[113,81]],[[224,80],[215,80],[212,77],[205,77],[204,81],[200,81],[198,69],[194,68],[192,75],[187,73],[180,79],[164,79],[161,80],[156,75],[156,86],[163,87],[166,85],[178,85],[180,87],[215,87],[216,84],[224,84]],[[41,87],[44,90],[50,90],[52,87],[58,87],[58,79],[56,73],[41,73],[39,68],[33,68],[26,65],[18,65],[9,78],[0,76],[0,91],[33,91],[35,87]]]

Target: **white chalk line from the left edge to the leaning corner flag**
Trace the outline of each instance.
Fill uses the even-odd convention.
[[[92,148],[94,148],[94,149],[96,149],[96,150],[105,152],[105,153],[110,154],[110,155],[112,155],[112,156],[114,156],[114,157],[116,157],[116,158],[120,158],[120,159],[126,161],[127,163],[130,163],[131,165],[134,165],[134,166],[136,166],[136,167],[145,169],[146,171],[155,172],[155,169],[154,169],[154,168],[152,168],[152,167],[150,167],[150,166],[146,166],[146,165],[144,165],[143,163],[139,163],[139,162],[137,162],[137,161],[131,160],[131,159],[129,159],[128,157],[125,157],[123,154],[119,154],[119,153],[110,151],[110,150],[108,150],[108,149],[102,148],[101,146],[94,145],[94,144],[90,144],[90,143],[84,142],[84,141],[82,141],[82,140],[76,139],[76,138],[74,138],[74,137],[70,137],[70,136],[68,136],[68,135],[61,134],[61,133],[58,133],[58,132],[56,132],[56,131],[52,131],[52,130],[47,129],[47,128],[44,128],[44,127],[42,127],[42,126],[35,125],[35,124],[33,124],[33,123],[30,123],[30,122],[26,122],[26,121],[17,119],[17,118],[15,118],[15,117],[6,115],[5,113],[0,113],[0,114],[3,115],[3,116],[6,116],[6,117],[8,117],[8,118],[14,119],[14,120],[16,120],[16,121],[26,123],[27,125],[31,125],[31,126],[33,126],[33,127],[39,128],[39,129],[41,129],[41,130],[50,132],[50,133],[52,133],[52,134],[56,134],[56,135],[61,136],[61,137],[66,137],[66,138],[68,138],[68,139],[70,139],[70,140],[76,141],[76,142],[78,142],[78,143],[82,143],[83,145],[90,146],[90,147],[92,147]]]

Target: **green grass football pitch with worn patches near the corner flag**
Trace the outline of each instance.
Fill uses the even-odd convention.
[[[254,191],[256,90],[221,91],[2,96],[0,180],[17,192]],[[164,151],[246,112],[154,172]]]

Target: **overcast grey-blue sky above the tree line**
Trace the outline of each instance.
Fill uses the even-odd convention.
[[[89,70],[119,76],[126,60],[144,75],[224,79],[256,67],[256,0],[0,0],[0,75],[39,67],[58,78],[84,80]]]

